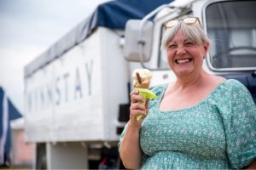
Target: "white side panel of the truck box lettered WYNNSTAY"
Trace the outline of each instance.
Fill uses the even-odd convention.
[[[26,137],[31,141],[103,138],[99,32],[26,78]]]

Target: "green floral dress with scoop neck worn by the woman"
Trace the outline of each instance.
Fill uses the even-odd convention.
[[[158,99],[142,123],[143,169],[230,169],[255,159],[256,106],[241,82],[220,83],[188,109],[160,111],[166,87],[153,89]]]

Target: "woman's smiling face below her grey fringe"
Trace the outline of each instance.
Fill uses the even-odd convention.
[[[179,29],[167,47],[167,59],[177,77],[189,76],[201,71],[209,43],[198,44],[189,41]]]

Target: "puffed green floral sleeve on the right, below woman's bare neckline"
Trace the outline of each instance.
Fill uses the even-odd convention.
[[[256,106],[241,82],[230,81],[223,95],[219,110],[230,164],[233,168],[246,167],[256,158]]]

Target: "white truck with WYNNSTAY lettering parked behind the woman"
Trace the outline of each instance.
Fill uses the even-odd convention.
[[[255,101],[255,8],[256,1],[177,0],[125,29],[96,26],[84,35],[92,20],[77,26],[25,68],[34,168],[122,168],[117,144],[129,119],[131,71],[151,69],[151,87],[175,81],[160,42],[164,23],[183,15],[200,17],[212,39],[204,68],[241,81]]]

